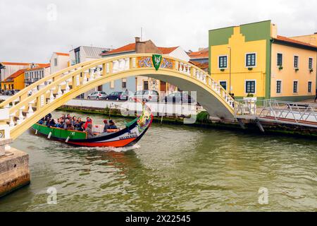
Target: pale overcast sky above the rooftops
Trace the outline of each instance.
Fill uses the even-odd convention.
[[[317,0],[1,0],[0,61],[48,62],[72,47],[208,47],[208,30],[272,20],[285,36],[317,32]]]

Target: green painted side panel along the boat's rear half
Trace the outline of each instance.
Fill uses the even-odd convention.
[[[58,129],[58,128],[49,128],[41,124],[34,124],[32,126],[32,129],[37,130],[38,133],[42,133],[45,135],[49,135],[49,133],[51,132],[51,136],[56,138],[66,139],[69,136],[70,139],[85,139],[87,137],[87,133],[85,132]]]

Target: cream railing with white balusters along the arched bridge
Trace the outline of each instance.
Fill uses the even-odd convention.
[[[67,99],[68,93],[80,86],[86,85],[85,88],[87,88],[90,87],[89,83],[90,85],[94,84],[92,82],[102,79],[101,77],[113,76],[116,78],[117,73],[125,71],[154,69],[151,57],[152,54],[131,54],[98,59],[70,66],[68,69],[42,78],[1,103],[2,107],[9,110],[8,124],[11,127],[11,132],[15,133],[20,128],[19,125],[25,122],[25,119],[40,117],[36,114],[37,112],[40,112],[44,107],[53,106],[56,100],[61,100],[62,97]],[[201,85],[206,85],[206,88],[209,88],[233,112],[234,100],[232,97],[221,85],[213,81],[208,73],[197,66],[163,55],[159,72],[154,71],[153,73],[164,73],[164,70],[177,71],[194,78]]]

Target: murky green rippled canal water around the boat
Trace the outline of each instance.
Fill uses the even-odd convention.
[[[13,147],[29,153],[32,182],[0,198],[0,211],[317,210],[309,139],[153,124],[130,149],[73,148],[31,131]]]

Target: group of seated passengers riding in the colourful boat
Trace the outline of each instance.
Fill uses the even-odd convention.
[[[93,136],[95,136],[94,132],[92,131],[92,118],[90,117],[87,117],[86,121],[82,121],[81,117],[71,117],[70,114],[62,114],[61,117],[59,117],[56,121],[52,118],[51,113],[49,113],[46,114],[46,116],[40,119],[37,123],[44,124],[51,128],[85,131],[87,132],[87,138],[92,138]],[[104,133],[110,133],[117,130],[118,127],[113,120],[110,119],[108,121],[104,119]]]

